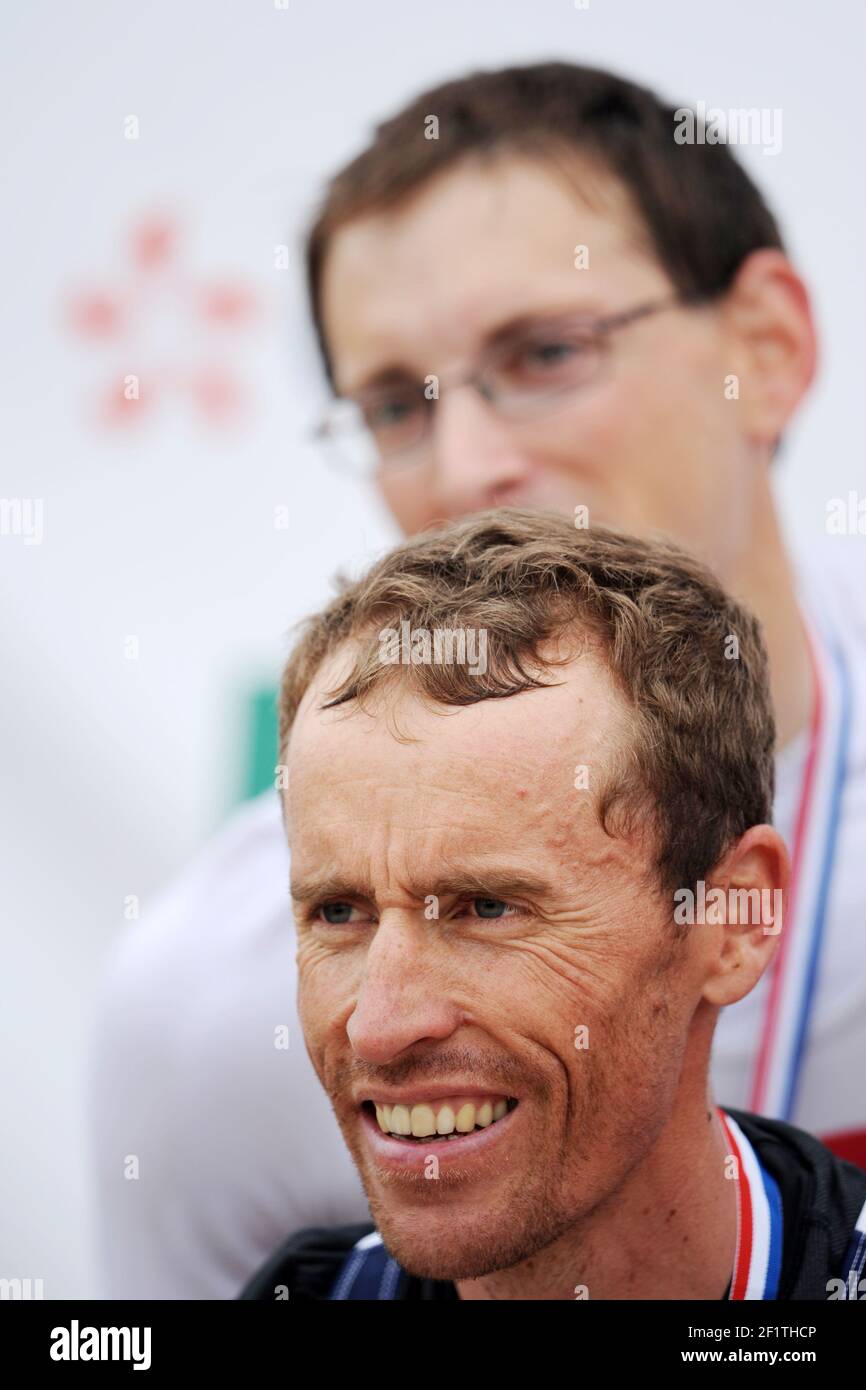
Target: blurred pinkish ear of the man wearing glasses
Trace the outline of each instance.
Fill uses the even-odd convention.
[[[784,252],[752,252],[723,300],[746,434],[771,446],[809,389],[817,338],[809,295]]]

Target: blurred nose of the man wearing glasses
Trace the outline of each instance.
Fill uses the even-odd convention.
[[[530,459],[513,427],[470,386],[452,386],[436,403],[432,423],[436,509],[460,517],[485,507],[518,503]]]

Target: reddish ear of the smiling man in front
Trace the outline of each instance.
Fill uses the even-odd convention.
[[[771,826],[752,826],[716,865],[708,880],[724,895],[724,922],[708,941],[703,998],[723,1008],[755,988],[785,930],[791,860]],[[709,917],[709,913],[708,913]]]

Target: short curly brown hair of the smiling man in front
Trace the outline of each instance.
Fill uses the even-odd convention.
[[[460,662],[386,664],[381,632],[485,632],[484,673]],[[770,820],[776,728],[758,620],[666,539],[577,530],[502,507],[423,532],[309,619],[279,691],[279,758],[304,692],[343,644],[353,666],[325,705],[403,681],[438,705],[549,684],[549,642],[594,638],[634,710],[634,737],[598,796],[609,833],[649,823],[663,890],[694,887],[751,826]]]

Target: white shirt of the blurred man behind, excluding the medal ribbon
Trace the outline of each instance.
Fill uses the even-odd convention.
[[[810,598],[823,582],[810,581]],[[845,582],[819,598],[844,616],[853,727],[792,1116],[819,1134],[866,1127],[866,585],[842,595]],[[776,820],[785,835],[806,746],[802,735],[778,758]],[[368,1219],[296,1013],[288,880],[271,791],[232,817],[115,951],[90,1094],[103,1297],[232,1298],[293,1230]],[[762,980],[721,1013],[720,1104],[746,1108],[765,995]],[[281,1026],[288,1051],[275,1047]]]

